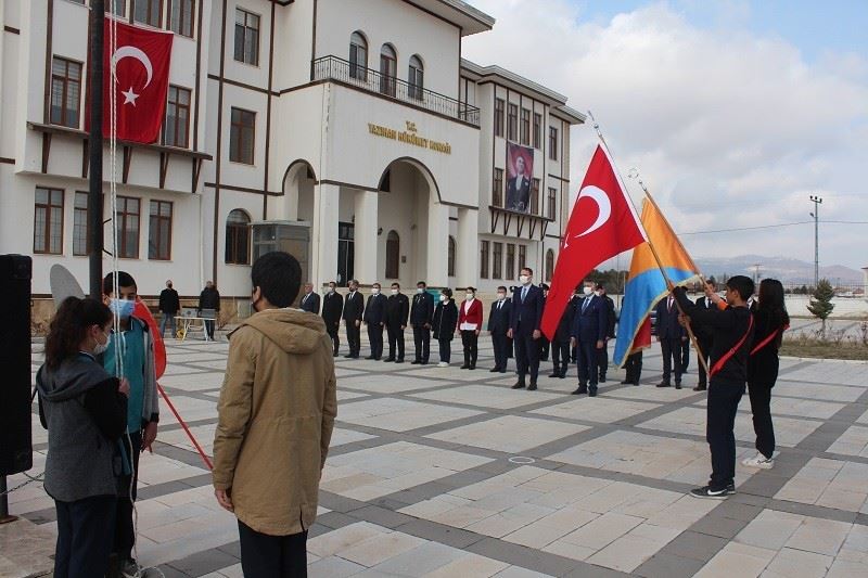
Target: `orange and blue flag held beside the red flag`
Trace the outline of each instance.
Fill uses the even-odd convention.
[[[642,226],[649,242],[654,244],[660,264],[674,284],[685,285],[699,279],[699,269],[693,259],[658,206],[649,200],[642,203]],[[630,273],[624,287],[613,357],[615,365],[623,367],[628,355],[651,345],[649,313],[668,292],[666,279],[651,247],[642,243],[633,251]],[[643,330],[644,326],[648,329]]]

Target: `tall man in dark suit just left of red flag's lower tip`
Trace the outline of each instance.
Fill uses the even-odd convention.
[[[519,381],[513,389],[527,387],[536,389],[536,378],[539,374],[539,323],[542,320],[542,290],[535,286],[532,281],[534,271],[525,267],[520,271],[520,286],[512,294],[512,308],[510,310],[509,331],[507,337],[514,339],[515,364],[519,368]],[[525,375],[531,373],[531,385],[525,385]]]

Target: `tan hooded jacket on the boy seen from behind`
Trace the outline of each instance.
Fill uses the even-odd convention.
[[[266,309],[230,334],[214,438],[214,487],[238,518],[289,536],[317,514],[337,413],[332,341],[322,319]]]

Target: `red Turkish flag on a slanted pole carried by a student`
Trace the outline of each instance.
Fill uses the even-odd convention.
[[[540,327],[552,338],[563,308],[588,272],[646,241],[627,192],[602,146],[590,160],[566,223]]]

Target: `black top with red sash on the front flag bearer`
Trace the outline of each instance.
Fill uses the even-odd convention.
[[[707,325],[714,334],[712,345],[712,370],[742,337],[746,338],[714,377],[720,381],[741,384],[748,382],[748,355],[753,343],[754,327],[751,323],[753,313],[746,307],[727,307],[726,309],[703,309],[687,297],[684,287],[675,287],[673,292],[685,313],[690,317],[692,326]],[[674,309],[675,307],[673,307]],[[749,330],[750,327],[750,330]]]

